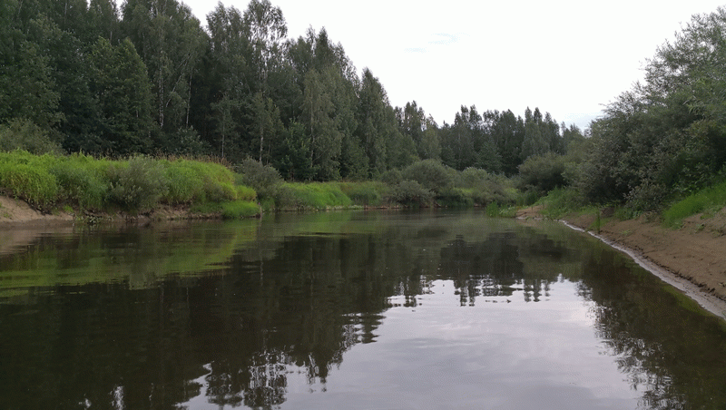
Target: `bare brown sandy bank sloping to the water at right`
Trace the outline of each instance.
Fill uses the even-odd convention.
[[[516,217],[542,218],[540,210],[519,210]],[[726,209],[687,218],[680,229],[664,228],[644,215],[617,220],[603,213],[599,230],[593,214],[570,214],[561,221],[623,250],[701,306],[726,317]]]

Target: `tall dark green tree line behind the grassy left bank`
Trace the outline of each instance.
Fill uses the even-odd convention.
[[[336,181],[419,160],[515,175],[582,136],[538,108],[461,106],[443,125],[417,102],[394,108],[324,28],[290,38],[269,0],[219,3],[206,27],[176,0],[8,0],[0,51],[0,124],[67,152],[251,158]]]

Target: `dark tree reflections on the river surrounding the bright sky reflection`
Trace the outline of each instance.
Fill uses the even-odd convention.
[[[597,337],[643,408],[726,406],[726,329],[617,252],[546,224],[366,218],[323,233],[273,235],[265,229],[279,225],[261,224],[258,239],[216,270],[155,272],[163,279],[145,288],[55,285],[3,299],[0,346],[13,354],[0,356],[0,408],[280,406],[299,388],[291,377],[325,389],[346,352],[378,339],[388,309],[417,307],[435,280],[451,282],[462,307],[495,299],[532,308],[556,298],[552,284],[572,281],[595,303]],[[90,235],[63,251],[44,237],[42,248],[64,260],[72,246],[74,255],[117,252]]]

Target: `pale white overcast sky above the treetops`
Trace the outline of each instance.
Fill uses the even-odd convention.
[[[182,0],[206,25],[217,5]],[[462,105],[478,112],[550,112],[587,128],[603,106],[643,79],[658,46],[711,0],[490,1],[270,0],[289,38],[325,27],[361,73],[378,77],[393,106],[416,101],[439,125]],[[240,11],[248,0],[223,0]]]

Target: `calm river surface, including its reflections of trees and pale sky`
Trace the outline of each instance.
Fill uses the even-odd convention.
[[[0,230],[0,409],[723,409],[726,323],[468,211]]]

